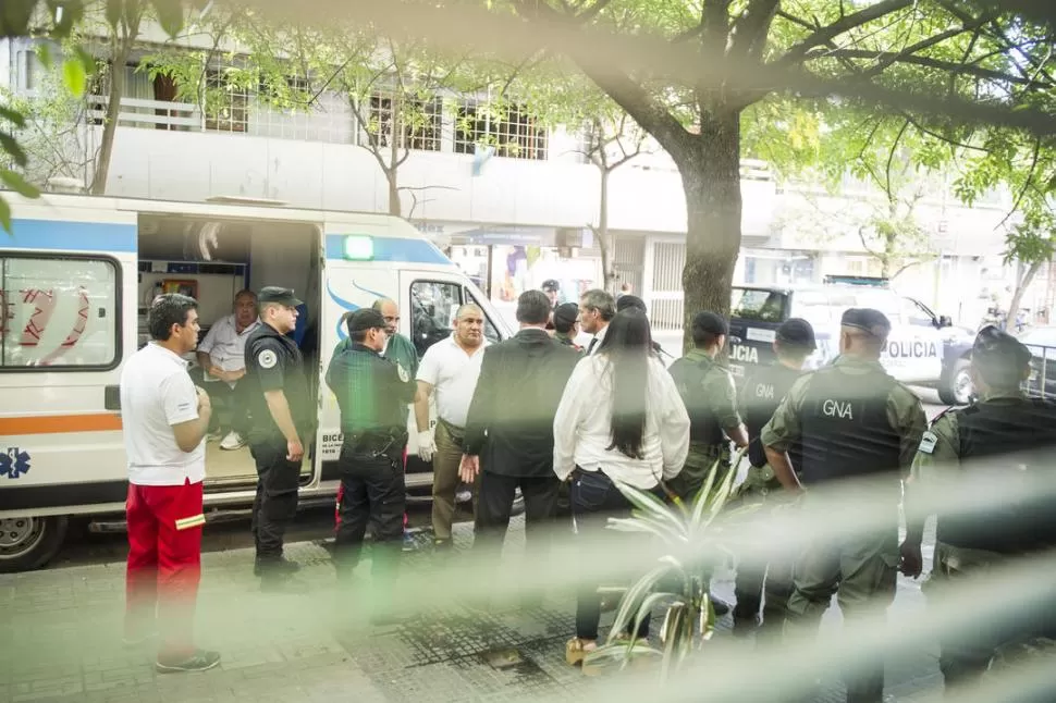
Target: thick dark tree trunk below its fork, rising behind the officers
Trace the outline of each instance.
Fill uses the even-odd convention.
[[[693,317],[729,314],[729,289],[740,252],[740,114],[708,115],[701,137],[672,157],[686,193],[687,234],[684,348],[691,346]]]

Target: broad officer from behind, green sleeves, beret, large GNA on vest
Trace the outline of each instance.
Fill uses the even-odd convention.
[[[832,366],[793,384],[761,433],[766,459],[794,494],[838,481],[844,495],[889,509],[889,525],[864,534],[834,530],[809,544],[794,567],[785,632],[816,631],[834,594],[849,620],[882,617],[895,596],[900,479],[908,471],[928,425],[913,393],[880,365],[891,323],[877,310],[851,308],[840,320],[840,356]],[[802,447],[800,476],[788,449]],[[802,483],[800,483],[800,477]],[[848,677],[847,701],[880,703],[884,663],[860,662]]]

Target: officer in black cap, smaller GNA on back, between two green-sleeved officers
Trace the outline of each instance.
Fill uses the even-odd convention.
[[[800,318],[790,318],[777,328],[773,343],[776,360],[769,366],[756,367],[741,386],[740,409],[748,430],[748,476],[740,486],[739,498],[746,505],[765,504],[768,496],[781,491],[781,482],[766,462],[766,453],[759,441],[763,427],[784,399],[793,383],[802,375],[803,362],[818,348],[814,330]],[[798,471],[802,464],[802,447],[797,442],[788,449],[793,468]],[[734,632],[751,631],[759,624],[763,584],[766,601],[763,622],[770,634],[779,634],[785,619],[785,605],[791,594],[791,564],[737,565],[734,607]]]

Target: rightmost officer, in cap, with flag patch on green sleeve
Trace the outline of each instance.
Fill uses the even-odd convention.
[[[901,548],[908,576],[921,571],[924,516],[917,504],[925,495],[940,504],[960,492],[994,495],[993,504],[982,509],[938,513],[934,567],[924,587],[930,601],[941,599],[950,583],[983,577],[1009,557],[1056,547],[1056,404],[1028,398],[1020,390],[1030,359],[1018,340],[984,328],[972,347],[970,371],[979,403],[943,414],[921,440],[907,486],[908,530]],[[944,491],[944,484],[955,490]],[[1030,651],[1032,640],[1056,638],[1054,610],[1049,603],[1029,617],[1016,617],[1016,622],[1006,618],[980,622],[971,632],[942,634],[938,663],[947,692],[977,683],[1002,651]]]

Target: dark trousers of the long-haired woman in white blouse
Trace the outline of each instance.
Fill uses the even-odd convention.
[[[598,559],[601,554],[615,554],[641,544],[641,536],[638,534],[607,529],[609,518],[628,518],[633,506],[601,471],[576,469],[572,479],[570,497],[576,539],[590,552],[589,559]],[[589,559],[585,557],[585,562]],[[598,639],[598,622],[601,620],[601,594],[598,589],[602,585],[629,587],[637,576],[639,575],[627,574],[625,578],[613,579],[623,581],[621,583],[591,583],[589,579],[585,579],[576,594],[576,637],[582,640]],[[628,633],[634,628],[634,622],[635,618],[631,618],[627,626]],[[648,615],[638,628],[638,637],[649,637]]]

